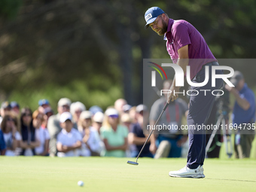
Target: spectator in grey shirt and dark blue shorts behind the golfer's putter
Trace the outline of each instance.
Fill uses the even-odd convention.
[[[171,80],[163,82],[163,90],[169,90],[172,85]],[[167,94],[164,97],[157,99],[151,107],[150,112],[150,124],[154,127],[154,123],[157,121],[160,112],[163,110],[166,104]],[[182,99],[176,99],[174,102],[170,102],[166,108],[165,113],[160,118],[158,124],[181,127],[181,117],[185,115],[187,117],[187,103]],[[156,133],[157,132],[157,133]],[[187,136],[183,136],[180,129],[163,129],[155,131],[157,136],[158,148],[155,145],[155,137],[151,137],[151,152],[155,154],[154,158],[160,157],[181,157],[181,149],[184,142],[187,141]],[[157,150],[156,150],[157,149]]]

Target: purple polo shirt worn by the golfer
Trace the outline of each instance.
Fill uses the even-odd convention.
[[[173,63],[177,63],[178,49],[188,44],[191,80],[200,72],[203,65],[217,61],[200,32],[185,20],[169,19],[164,39],[167,40],[166,48]]]

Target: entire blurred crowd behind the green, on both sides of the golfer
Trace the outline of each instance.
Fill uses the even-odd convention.
[[[245,92],[246,84],[241,74],[240,76],[239,82],[242,82],[240,87],[244,87]],[[171,84],[172,81],[165,81],[163,89],[168,90]],[[240,90],[242,91],[242,88]],[[240,90],[236,92],[233,90],[231,93],[238,95]],[[251,112],[247,111],[251,114],[251,122],[254,122],[254,95],[249,93],[251,105],[246,106],[251,108]],[[0,154],[50,157],[137,157],[166,103],[166,97],[165,94],[157,99],[151,109],[145,105],[131,106],[125,99],[117,99],[114,105],[109,106],[105,111],[97,105],[87,109],[81,102],[71,102],[68,98],[61,98],[57,104],[56,114],[53,112],[55,106],[50,105],[47,99],[41,99],[35,111],[30,108],[20,109],[17,102],[2,102]],[[237,98],[239,102],[239,97]],[[245,104],[247,104],[246,100]],[[242,114],[241,110],[239,114]],[[181,126],[181,119],[187,117],[187,112],[188,104],[182,99],[176,99],[166,108],[159,123]],[[248,114],[244,116],[248,117]],[[151,129],[148,130],[148,126]],[[236,133],[236,138],[238,134],[240,133]],[[245,135],[251,140],[248,146],[241,145],[243,151],[248,149],[248,153],[241,154],[241,157],[249,157],[254,134],[253,130],[250,135]],[[241,139],[242,142],[244,140]],[[239,147],[237,143],[235,143],[236,146]],[[154,132],[148,140],[140,157],[185,157],[187,147],[186,134],[173,129],[160,130]],[[183,155],[182,150],[185,151]]]

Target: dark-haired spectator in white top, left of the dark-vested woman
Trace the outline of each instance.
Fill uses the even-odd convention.
[[[17,116],[5,114],[1,123],[1,129],[5,139],[6,156],[15,156],[15,151],[20,145],[21,136],[19,133]]]

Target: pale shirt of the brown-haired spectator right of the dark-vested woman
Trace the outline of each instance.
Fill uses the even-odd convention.
[[[39,129],[35,129],[35,138],[40,142],[40,146],[35,148],[35,154],[41,154],[44,152],[45,141],[50,139],[48,130],[43,129],[41,126]]]

